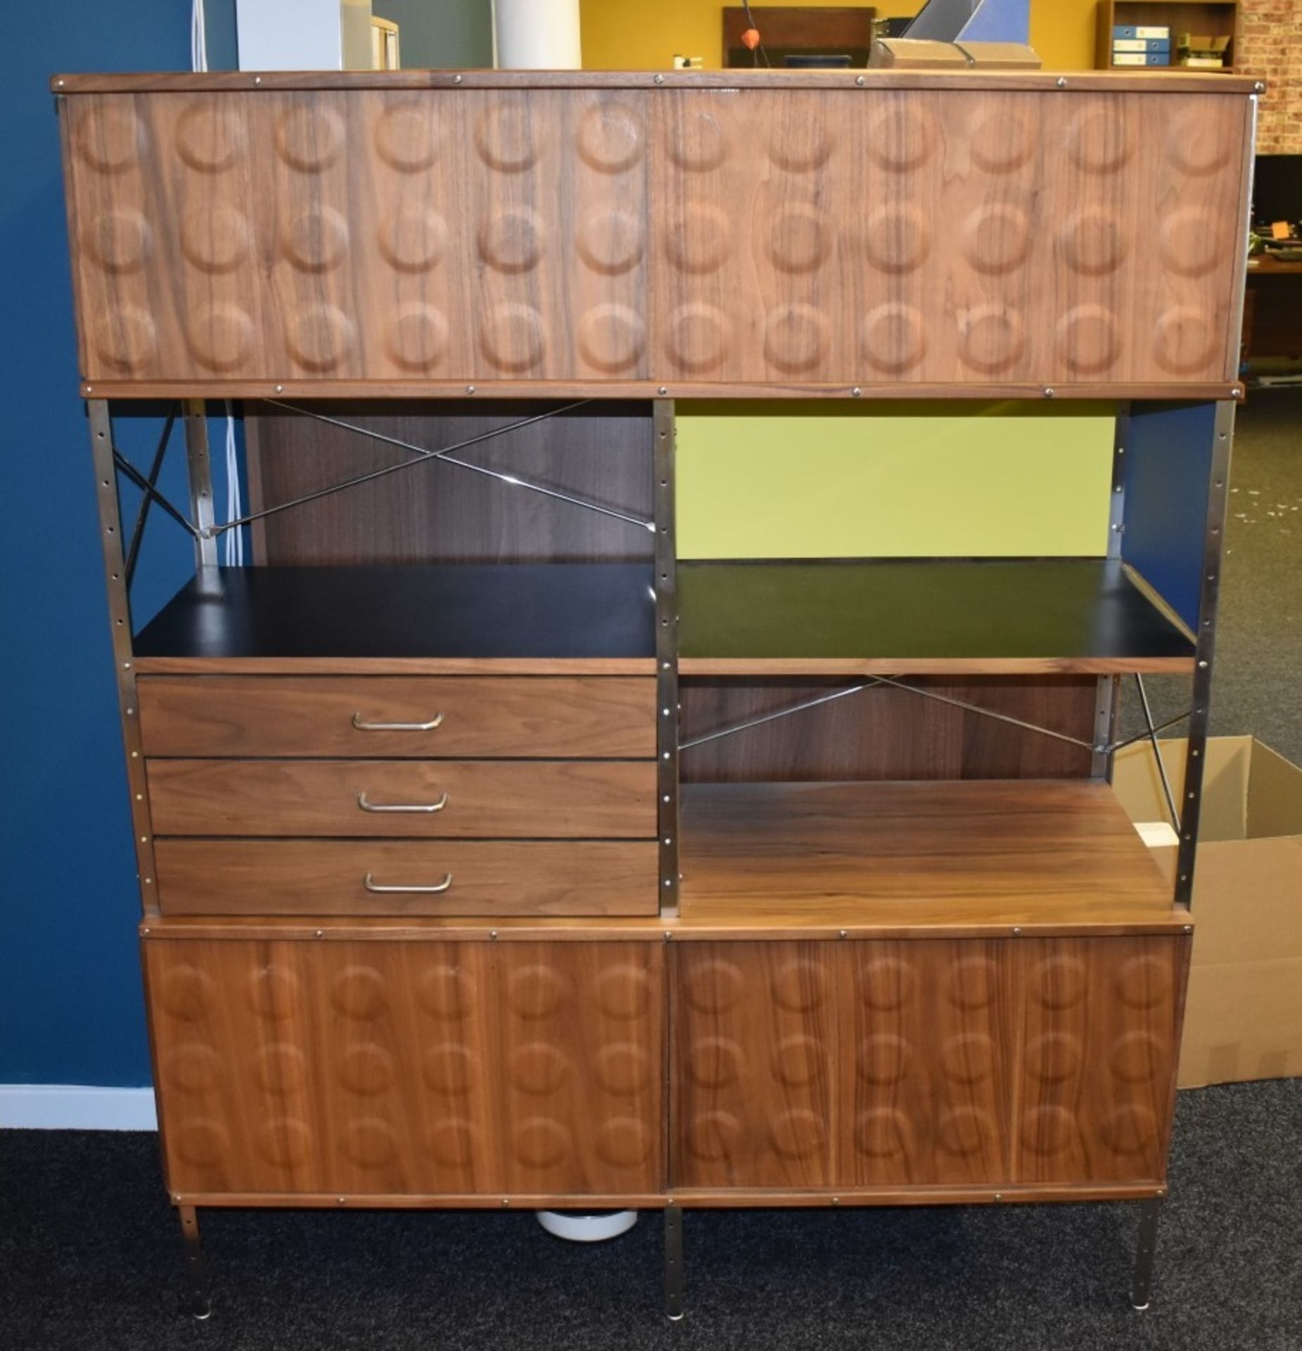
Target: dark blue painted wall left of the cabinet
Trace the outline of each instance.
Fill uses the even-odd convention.
[[[57,8],[0,45],[0,1084],[142,1085],[139,901],[47,80],[188,69],[190,7]],[[147,458],[158,426],[126,419],[123,449]],[[184,457],[172,469],[184,494]],[[192,557],[163,526],[140,559],[142,616]]]

